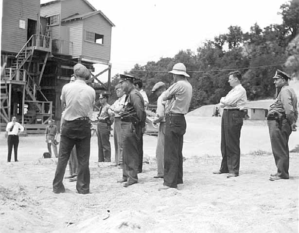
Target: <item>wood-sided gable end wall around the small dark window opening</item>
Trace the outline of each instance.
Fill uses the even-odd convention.
[[[83,20],[83,50],[82,58],[98,60],[104,63],[110,61],[111,25],[101,15],[94,15]],[[85,31],[104,35],[104,43],[97,44],[85,40]]]

